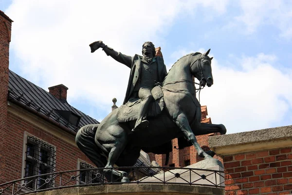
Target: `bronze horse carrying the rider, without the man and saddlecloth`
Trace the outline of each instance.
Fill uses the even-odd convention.
[[[192,143],[199,156],[212,158],[202,150],[195,136],[219,132],[226,133],[222,124],[201,123],[201,105],[196,98],[193,77],[200,80],[202,87],[213,84],[210,49],[183,56],[171,67],[161,86],[160,97],[164,99],[162,111],[156,117],[148,117],[146,129],[131,132],[135,120],[119,122],[121,107],[113,110],[100,124],[82,127],[76,135],[76,144],[97,167],[105,167],[105,172],[120,176],[117,166],[133,166],[140,156],[140,150],[162,154],[162,146],[174,138],[184,137]],[[155,89],[153,88],[153,90]],[[201,88],[201,87],[200,87]],[[153,91],[152,90],[152,91]],[[153,94],[153,93],[152,93]],[[158,101],[157,100],[157,101]],[[139,106],[139,102],[134,106]],[[133,108],[134,109],[134,108]],[[160,152],[160,153],[159,153]],[[126,176],[127,173],[123,172]]]

